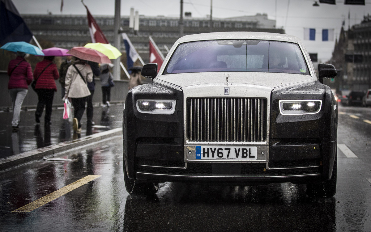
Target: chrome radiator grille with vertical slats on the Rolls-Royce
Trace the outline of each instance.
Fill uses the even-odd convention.
[[[190,142],[263,142],[266,139],[266,99],[187,99]]]

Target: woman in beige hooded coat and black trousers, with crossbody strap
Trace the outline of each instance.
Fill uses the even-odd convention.
[[[89,64],[85,61],[75,57],[75,62],[68,67],[65,79],[66,94],[65,97],[69,97],[73,105],[73,118],[72,127],[73,131],[81,132],[81,118],[85,111],[86,97],[90,95],[88,82],[93,81],[93,72]]]

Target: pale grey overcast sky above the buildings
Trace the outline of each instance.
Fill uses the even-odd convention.
[[[61,0],[12,0],[20,14],[82,14],[86,10],[80,0],[63,0],[63,11],[60,12]],[[183,0],[183,11],[191,12],[193,17],[210,15],[210,0]],[[114,0],[84,0],[93,16],[114,15]],[[371,13],[371,0],[365,6],[344,5],[344,0],[336,5],[323,4],[313,7],[313,0],[213,0],[213,17],[226,18],[250,16],[256,13],[267,13],[269,19],[276,20],[278,28],[283,27],[286,34],[299,37],[309,53],[318,53],[318,59],[326,62],[331,58],[335,41],[322,42],[322,29],[335,29],[338,37],[342,21],[345,27],[358,24],[364,15]],[[180,0],[121,0],[121,15],[128,16],[130,8],[145,16],[178,16]],[[350,12],[350,20],[348,13]],[[303,28],[316,29],[316,41],[303,40]],[[140,28],[139,28],[140,30]]]

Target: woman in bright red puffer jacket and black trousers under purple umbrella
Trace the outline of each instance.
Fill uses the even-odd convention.
[[[51,124],[53,97],[54,92],[57,91],[55,80],[59,78],[58,69],[53,60],[54,56],[45,56],[43,61],[36,64],[33,72],[33,79],[36,80],[35,89],[39,98],[35,112],[35,121],[40,123],[40,117],[45,106],[45,125]]]

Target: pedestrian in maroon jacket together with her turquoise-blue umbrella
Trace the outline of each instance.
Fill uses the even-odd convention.
[[[28,86],[32,82],[31,65],[24,59],[26,53],[44,55],[36,46],[26,42],[9,42],[0,49],[17,53],[17,58],[11,60],[8,65],[9,83],[8,89],[13,103],[13,131],[19,129],[19,115],[24,98],[28,92]]]

